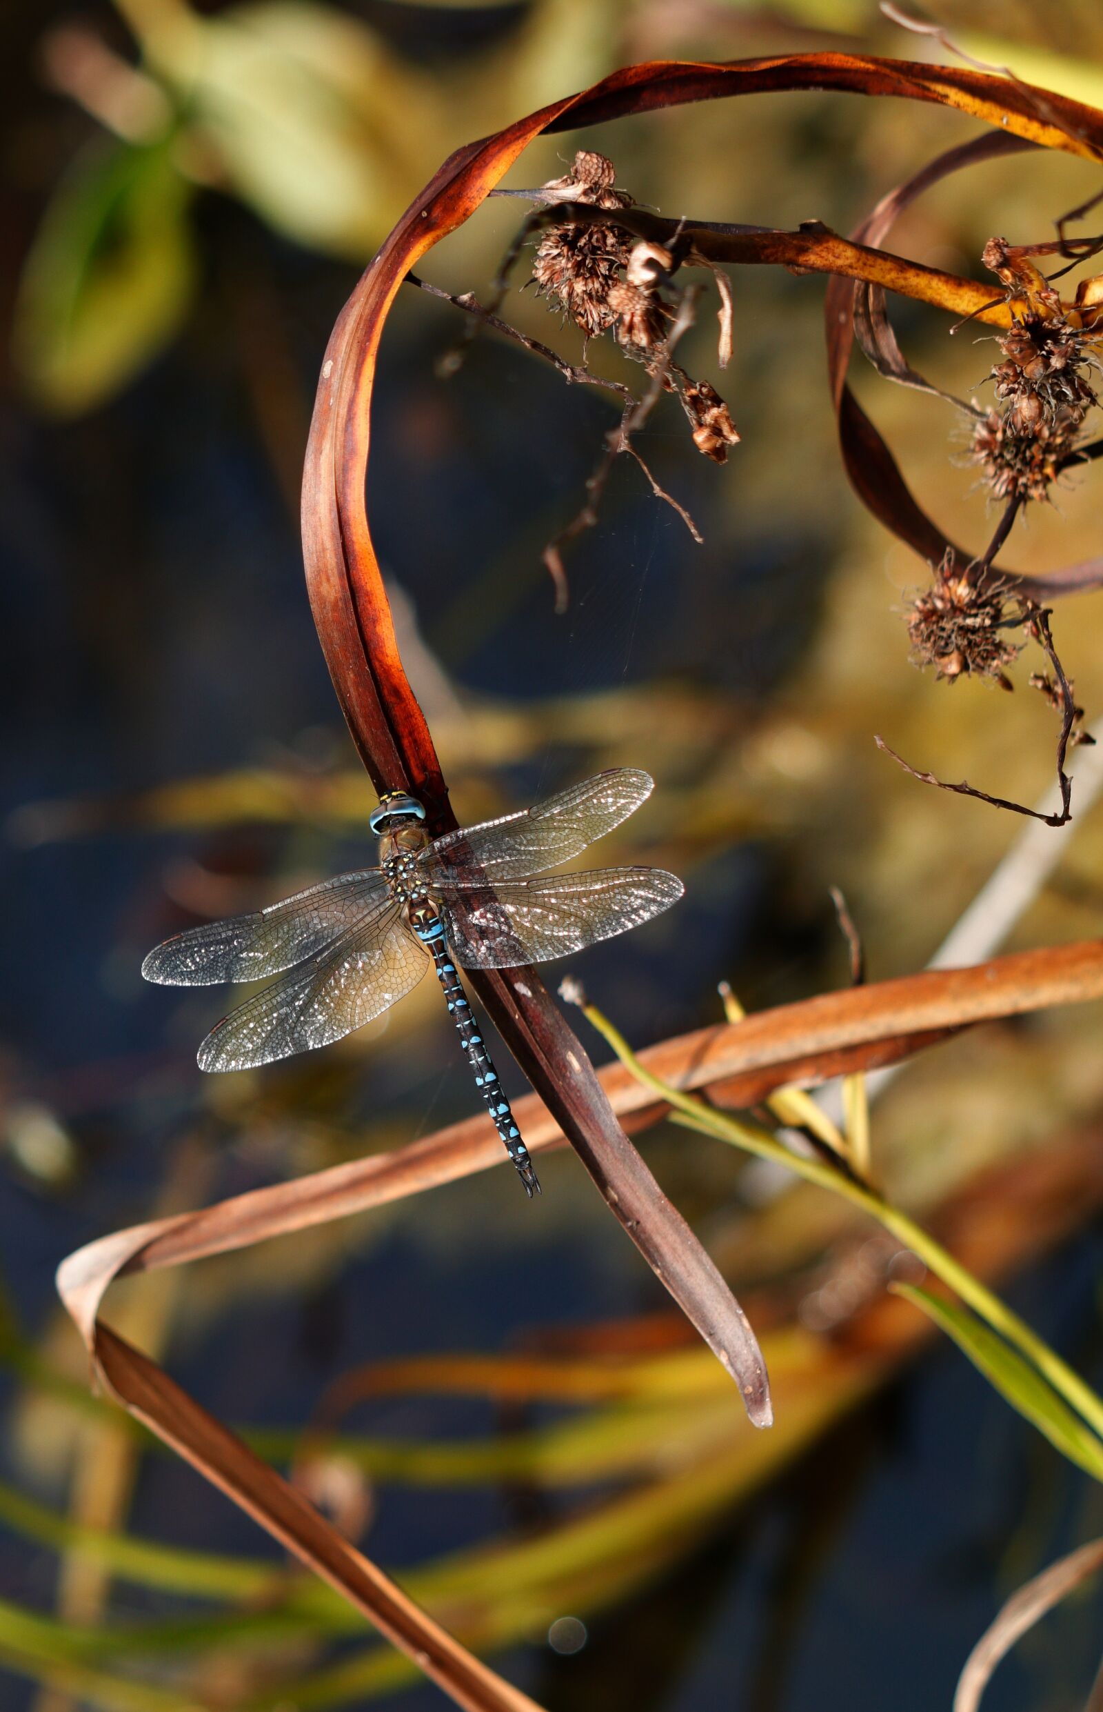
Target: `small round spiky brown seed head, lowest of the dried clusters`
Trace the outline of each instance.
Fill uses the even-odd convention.
[[[934,666],[939,678],[951,683],[963,673],[992,678],[1009,690],[1004,666],[1019,654],[1004,632],[1021,621],[1017,606],[1009,604],[1007,584],[992,575],[971,579],[947,553],[929,589],[908,608],[908,637],[917,666]]]

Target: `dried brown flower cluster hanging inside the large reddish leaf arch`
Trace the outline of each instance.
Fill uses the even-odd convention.
[[[542,192],[552,205],[569,200],[616,211],[633,200],[616,188],[612,161],[585,149],[569,173],[549,180]],[[694,382],[670,354],[677,306],[660,288],[679,260],[665,245],[633,243],[612,223],[556,219],[544,229],[532,274],[540,296],[557,303],[587,337],[616,329],[624,354],[679,395],[698,450],[723,464],[727,449],[739,443],[732,414],[710,382]]]

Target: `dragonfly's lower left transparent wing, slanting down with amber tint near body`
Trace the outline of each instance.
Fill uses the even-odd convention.
[[[371,1022],[421,981],[429,955],[400,906],[385,899],[303,969],[294,969],[215,1024],[200,1070],[248,1070],[328,1046]]]

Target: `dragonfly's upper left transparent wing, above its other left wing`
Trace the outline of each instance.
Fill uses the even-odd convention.
[[[342,873],[251,916],[176,933],[149,954],[142,974],[162,986],[260,981],[316,957],[385,897],[378,868]]]

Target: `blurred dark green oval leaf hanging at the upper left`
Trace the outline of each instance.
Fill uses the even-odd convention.
[[[97,142],[50,202],[19,289],[14,354],[27,390],[77,416],[103,404],[180,329],[195,289],[190,185],[171,139]]]

